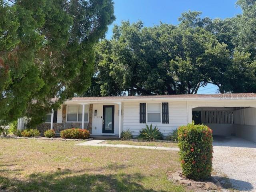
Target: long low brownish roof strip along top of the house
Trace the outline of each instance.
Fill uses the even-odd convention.
[[[196,98],[223,98],[223,99],[256,99],[256,93],[224,93],[224,94],[184,94],[184,95],[148,95],[148,96],[113,96],[113,97],[73,97],[72,101],[81,100],[126,100],[126,99],[196,99]]]

